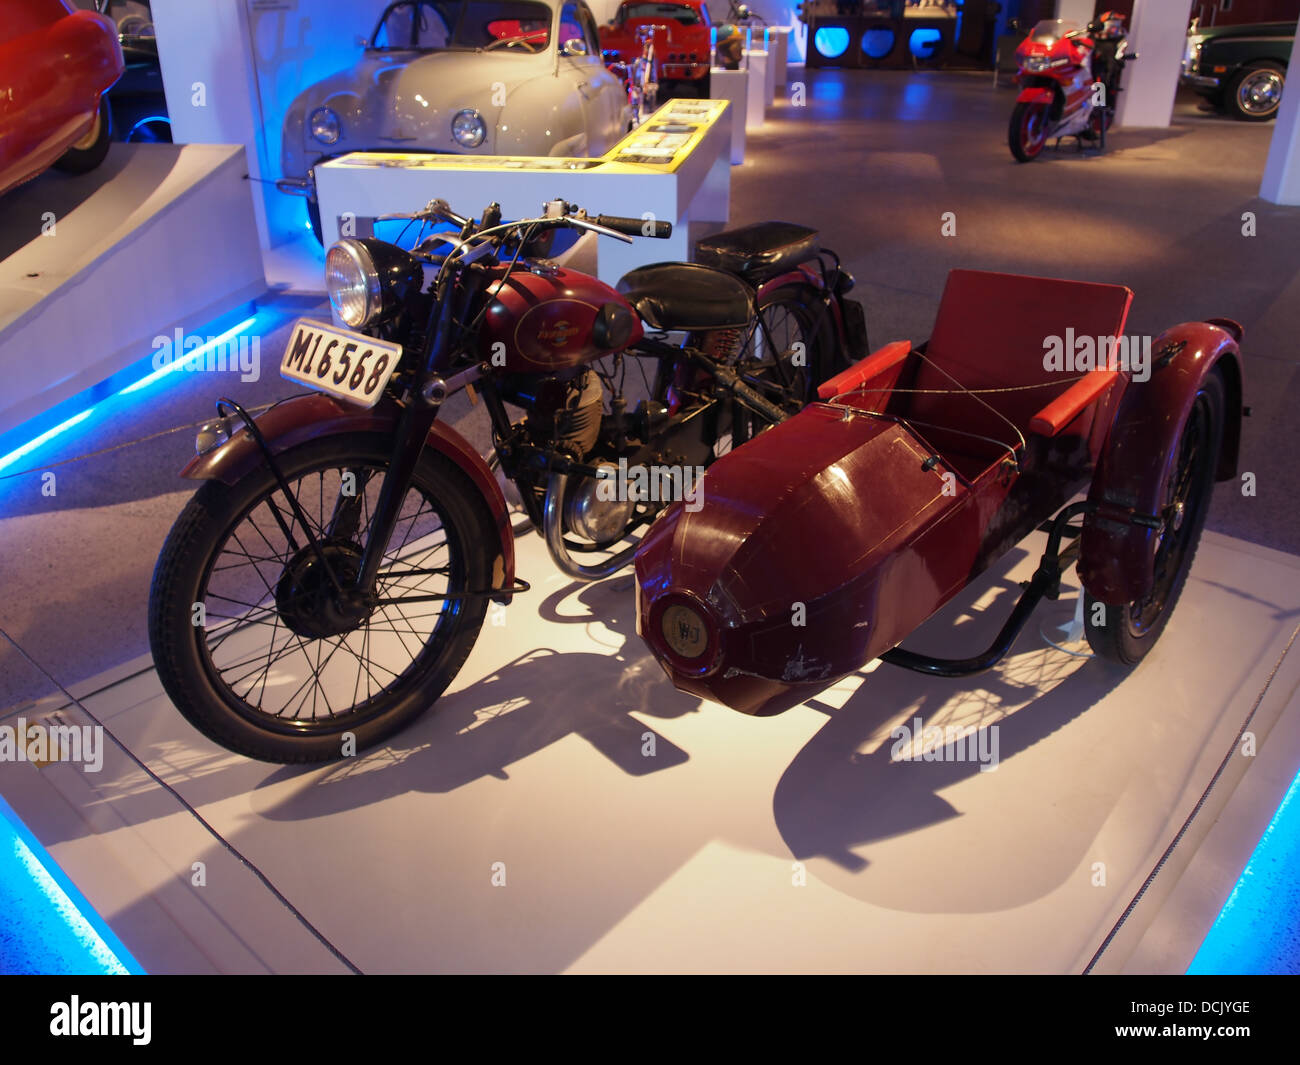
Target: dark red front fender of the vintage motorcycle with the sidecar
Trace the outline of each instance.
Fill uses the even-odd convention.
[[[399,415],[400,407],[391,401],[381,402],[365,411],[320,393],[308,393],[277,403],[254,420],[272,454],[278,455],[300,443],[339,433],[377,433],[391,437]],[[491,586],[512,586],[515,534],[511,529],[510,508],[506,506],[506,497],[497,484],[497,477],[469,441],[443,421],[433,423],[426,446],[455,463],[482,497],[500,542],[499,564],[493,566]],[[247,429],[240,429],[220,447],[190,459],[181,476],[233,485],[259,463],[261,463],[261,449]],[[508,602],[510,596],[503,594],[498,601]]]

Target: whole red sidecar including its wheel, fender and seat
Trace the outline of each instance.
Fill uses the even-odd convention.
[[[1131,300],[1117,285],[953,270],[928,342],[887,345],[711,466],[702,499],[664,512],[636,557],[638,632],[673,684],[772,714],[878,657],[975,674],[1075,562],[1093,650],[1136,663],[1214,480],[1236,473],[1242,329],[1124,338]],[[991,648],[898,646],[1040,527],[1046,553]]]

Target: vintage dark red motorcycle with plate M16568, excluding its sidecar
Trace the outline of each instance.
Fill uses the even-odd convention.
[[[615,290],[546,257],[555,235],[630,242],[670,224],[563,200],[511,222],[495,204],[476,221],[434,200],[408,221],[411,250],[329,250],[347,328],[299,320],[281,364],[315,391],[256,419],[217,403],[182,475],[204,484],[153,573],[164,688],[255,758],[380,743],[451,683],[489,602],[526,590],[497,475],[438,420],[448,395],[481,397],[499,475],[560,570],[594,580],[630,562],[689,490],[685,471],[784,420],[864,350],[864,333],[844,335],[852,278],[800,226],[719,234],[697,254],[724,269],[649,265]],[[645,394],[629,410],[632,364]]]

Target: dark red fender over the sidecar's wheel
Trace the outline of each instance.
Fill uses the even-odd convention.
[[[1178,437],[1201,382],[1223,377],[1223,445],[1216,480],[1236,476],[1242,440],[1242,326],[1227,319],[1175,325],[1152,342],[1150,377],[1131,380],[1101,447],[1083,521],[1079,576],[1105,603],[1141,599],[1152,588],[1160,531],[1126,520],[1160,516],[1176,463]]]

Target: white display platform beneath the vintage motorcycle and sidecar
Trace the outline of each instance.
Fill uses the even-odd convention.
[[[982,648],[1036,560],[1013,553],[909,646]],[[1286,789],[1277,766],[1300,762],[1300,558],[1213,533],[1136,671],[1045,646],[1067,588],[991,674],[878,666],[768,719],[670,687],[629,576],[575,585],[536,533],[519,572],[533,590],[437,710],[346,763],[213,746],[147,659],[75,694],[95,692],[86,709],[370,973],[1078,973],[1258,701],[1258,756],[1231,759],[1160,874],[1173,891],[1148,891],[1097,965],[1182,971],[1240,873],[1200,840],[1231,815],[1249,853]],[[998,767],[892,762],[893,730],[918,717],[997,726]],[[99,774],[0,774],[147,970],[344,969],[112,745]]]

